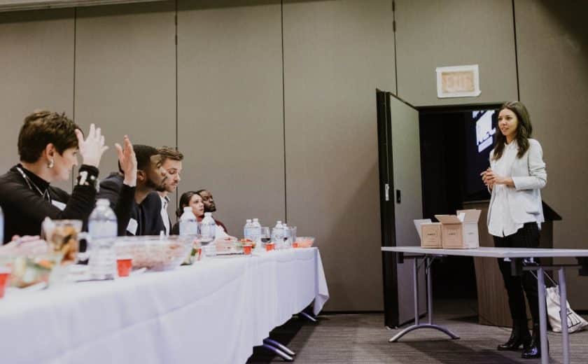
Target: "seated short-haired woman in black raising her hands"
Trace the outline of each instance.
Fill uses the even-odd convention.
[[[45,217],[87,219],[94,209],[98,165],[107,148],[94,124],[84,140],[78,125],[64,114],[36,111],[27,116],[18,134],[20,163],[0,176],[3,243],[14,235],[38,235]],[[78,153],[83,163],[71,195],[50,186],[69,179]]]

